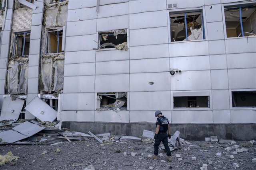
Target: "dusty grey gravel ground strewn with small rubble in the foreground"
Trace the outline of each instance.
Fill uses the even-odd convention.
[[[248,152],[238,153],[234,158],[230,158],[231,151],[236,150],[233,148],[231,151],[225,151],[224,148],[232,147],[230,144],[189,142],[200,147],[183,145],[182,149],[172,151],[172,162],[161,161],[166,160],[166,153],[162,149],[159,153],[163,156],[159,160],[148,158],[148,155],[153,154],[154,151],[152,140],[149,142],[127,141],[127,144],[112,141],[100,144],[96,139],[90,139],[59,145],[1,145],[1,155],[12,151],[14,156],[20,158],[0,166],[0,169],[81,170],[92,164],[95,169],[100,170],[148,170],[152,167],[154,170],[200,170],[204,163],[208,165],[208,170],[232,170],[235,169],[233,162],[239,165],[238,169],[256,169],[256,163],[252,162],[252,158],[256,158],[256,143],[252,147],[247,147]],[[237,144],[242,147],[248,143],[237,142]],[[57,149],[60,152],[56,152]],[[126,156],[124,152],[127,153]],[[136,156],[131,156],[131,152],[135,152]],[[216,157],[217,152],[221,152],[222,156]],[[181,161],[175,157],[176,154],[181,154]],[[192,156],[195,156],[196,160],[192,160]],[[211,160],[212,164],[209,164],[208,160]]]

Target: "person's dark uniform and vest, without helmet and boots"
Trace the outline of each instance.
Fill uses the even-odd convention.
[[[168,119],[163,115],[156,119],[156,126],[160,125],[160,129],[158,131],[158,134],[154,143],[154,155],[158,155],[158,147],[162,142],[164,144],[164,148],[166,149],[167,156],[171,156],[171,151],[168,146],[168,139],[167,139],[168,134],[166,133],[166,131],[168,130],[168,124],[169,124]]]

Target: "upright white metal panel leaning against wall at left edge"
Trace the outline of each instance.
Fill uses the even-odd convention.
[[[4,97],[0,121],[10,119],[18,120],[23,105],[24,100],[18,98],[16,98],[16,100],[12,100],[11,97]]]

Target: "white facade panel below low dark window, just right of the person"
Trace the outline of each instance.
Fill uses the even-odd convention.
[[[172,111],[172,123],[213,123],[212,111]]]

